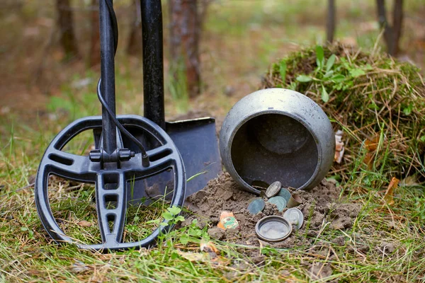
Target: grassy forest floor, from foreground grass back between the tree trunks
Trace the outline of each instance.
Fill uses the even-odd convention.
[[[58,246],[38,218],[33,182],[55,134],[79,117],[100,114],[99,68],[87,69],[86,56],[63,61],[53,31],[53,1],[38,2],[26,1],[20,10],[10,7],[0,12],[2,30],[8,30],[0,34],[0,282],[425,281],[425,187],[404,180],[395,205],[388,207],[382,205],[382,190],[390,180],[365,171],[352,172],[351,183],[336,182],[338,174],[333,172],[319,185],[327,195],[320,195],[318,189],[301,192],[308,204],[301,207],[306,223],[286,246],[255,241],[249,231],[243,237],[217,232],[219,215],[212,212],[227,209],[227,204],[213,203],[211,190],[232,202],[238,198],[247,202],[251,197],[239,192],[225,173],[192,200],[197,205],[207,202],[210,209],[202,215],[183,209],[178,229],[163,236],[156,248],[103,254]],[[166,76],[167,120],[205,114],[216,117],[220,125],[234,103],[261,87],[271,63],[301,47],[324,43],[325,5],[318,7],[313,0],[284,2],[217,1],[210,6],[200,48],[203,92],[195,99],[173,93]],[[421,2],[405,3],[399,59],[425,67],[425,6]],[[141,59],[123,51],[130,26],[125,22],[128,6],[117,5],[123,30],[115,62],[117,109],[142,115]],[[337,5],[337,40],[361,50],[376,46],[385,50],[377,41],[380,30],[374,1],[344,0]],[[89,13],[81,11],[76,15],[77,37],[80,49],[86,51]],[[165,45],[167,50],[166,40]],[[166,68],[167,60],[164,64]],[[86,152],[92,142],[90,134],[83,134],[72,150]],[[352,182],[361,190],[352,190]],[[94,187],[60,178],[52,184],[51,204],[61,225],[81,241],[96,238]],[[161,218],[166,211],[158,203],[132,209],[127,238],[148,233],[157,222],[145,222]],[[239,210],[241,223],[252,228],[253,220]],[[200,250],[205,242],[212,253]]]

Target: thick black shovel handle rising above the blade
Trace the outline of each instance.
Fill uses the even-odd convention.
[[[145,117],[165,129],[161,1],[140,0],[140,10],[142,13]]]

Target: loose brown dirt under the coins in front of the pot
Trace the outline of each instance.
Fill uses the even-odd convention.
[[[183,226],[191,224],[193,219],[198,219],[198,224],[203,228],[208,226],[208,234],[217,240],[229,241],[248,246],[272,246],[274,248],[290,248],[294,245],[302,245],[306,239],[319,235],[319,231],[327,221],[330,221],[331,229],[348,229],[353,225],[360,204],[338,202],[341,193],[340,187],[327,180],[322,180],[313,190],[292,190],[299,195],[302,204],[297,208],[304,214],[305,222],[301,229],[293,231],[289,238],[282,242],[267,243],[259,240],[255,233],[255,226],[264,216],[283,215],[278,212],[275,204],[266,202],[262,212],[252,215],[248,212],[248,204],[257,197],[240,189],[239,185],[232,180],[228,173],[221,173],[208,185],[191,197],[188,197],[188,209],[193,214],[186,216]],[[217,228],[222,211],[233,212],[239,222],[239,229],[222,230]]]

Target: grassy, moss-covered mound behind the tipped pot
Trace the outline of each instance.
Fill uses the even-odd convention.
[[[317,46],[273,64],[263,88],[273,87],[309,96],[335,130],[344,130],[344,161],[334,172],[425,180],[425,83],[412,64],[343,45]]]

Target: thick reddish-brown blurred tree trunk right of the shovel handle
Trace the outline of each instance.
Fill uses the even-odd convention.
[[[170,0],[170,71],[178,79],[179,71],[186,75],[190,97],[200,93],[198,0]]]

